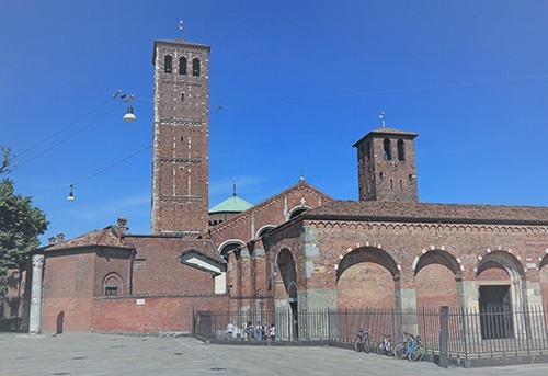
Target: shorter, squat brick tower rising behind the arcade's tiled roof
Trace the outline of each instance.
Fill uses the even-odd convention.
[[[361,201],[419,201],[414,158],[416,136],[415,133],[383,126],[354,144]]]

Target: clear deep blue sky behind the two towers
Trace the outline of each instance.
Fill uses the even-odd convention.
[[[258,204],[301,169],[357,200],[352,145],[380,111],[420,135],[420,201],[546,206],[547,19],[543,0],[2,1],[0,145],[50,221],[43,242],[119,216],[149,233],[152,44],[184,20],[212,46],[210,206],[232,180]]]

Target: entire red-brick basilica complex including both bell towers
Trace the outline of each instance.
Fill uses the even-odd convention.
[[[153,45],[151,233],[126,233],[121,217],[50,238],[30,257],[24,330],[189,331],[193,310],[548,304],[548,208],[420,203],[412,132],[354,144],[358,201],[301,179],[209,210],[209,49]]]

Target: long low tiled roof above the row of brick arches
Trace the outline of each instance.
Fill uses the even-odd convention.
[[[548,207],[545,206],[334,201],[313,208],[304,216],[311,219],[329,217],[363,220],[548,225]]]

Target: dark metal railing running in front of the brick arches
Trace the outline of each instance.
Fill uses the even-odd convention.
[[[308,310],[298,314],[288,309],[249,310],[238,312],[195,312],[195,333],[210,339],[254,340],[259,322],[275,324],[276,341],[353,342],[361,328],[370,329],[372,344],[383,333],[403,332],[421,335],[427,353],[439,354],[441,309],[422,307],[416,310],[344,309]],[[231,322],[236,329],[227,333]],[[244,329],[253,328],[253,335]],[[546,307],[511,309],[488,306],[480,310],[449,308],[447,350],[449,357],[482,358],[522,356],[548,353],[548,311]]]

